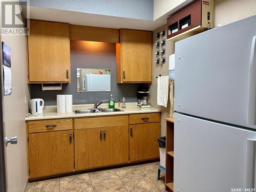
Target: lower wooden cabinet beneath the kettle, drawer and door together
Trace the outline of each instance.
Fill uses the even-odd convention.
[[[30,178],[73,171],[72,119],[30,121],[28,141]]]

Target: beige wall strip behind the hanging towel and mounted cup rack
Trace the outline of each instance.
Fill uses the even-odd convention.
[[[157,76],[158,75],[169,75],[169,55],[174,53],[174,43],[172,41],[167,41],[166,42],[166,46],[164,46],[165,48],[165,63],[163,64],[163,66],[157,66],[155,63],[156,60],[156,34],[160,33],[162,30],[166,30],[166,25],[156,29],[155,31],[153,31],[153,46],[152,46],[152,84],[150,87],[150,103],[152,105],[153,108],[157,108],[160,109],[162,111],[161,113],[161,135],[165,136],[165,132],[166,132],[166,125],[165,125],[165,120],[164,118],[168,118],[170,117],[170,102],[168,100],[168,105],[167,108],[165,108],[164,106],[160,106],[157,105]],[[166,35],[165,35],[165,39],[166,39]]]

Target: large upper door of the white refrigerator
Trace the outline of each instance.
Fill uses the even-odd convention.
[[[256,15],[176,42],[175,111],[255,129],[255,38]]]

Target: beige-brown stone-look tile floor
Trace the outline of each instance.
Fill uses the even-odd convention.
[[[159,162],[101,170],[86,174],[31,182],[31,191],[165,191],[164,174],[157,181]]]

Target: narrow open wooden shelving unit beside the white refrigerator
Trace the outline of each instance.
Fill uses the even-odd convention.
[[[165,190],[174,191],[174,118],[166,118]]]

